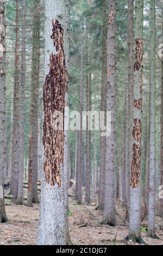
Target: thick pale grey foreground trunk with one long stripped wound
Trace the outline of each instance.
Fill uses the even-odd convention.
[[[64,54],[64,1],[45,1],[45,83],[43,87],[43,172],[37,245],[66,245],[64,129],[52,115],[64,117],[67,71]],[[61,25],[60,25],[61,22]],[[55,100],[54,100],[55,99]],[[51,123],[51,121],[53,123]],[[53,127],[52,127],[53,125]],[[64,120],[61,121],[64,128]],[[49,138],[50,136],[50,138]]]

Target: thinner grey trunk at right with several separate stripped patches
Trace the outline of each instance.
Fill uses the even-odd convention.
[[[135,2],[135,64],[133,160],[130,181],[130,219],[128,239],[142,242],[140,231],[140,172],[142,120],[142,58],[143,58],[143,0]]]

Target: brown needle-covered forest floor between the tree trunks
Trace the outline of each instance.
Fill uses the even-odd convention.
[[[123,241],[128,234],[125,224],[125,209],[117,214],[117,226],[101,224],[102,213],[95,210],[96,203],[91,205],[78,205],[69,198],[71,216],[69,216],[70,236],[73,245],[128,245],[131,241]],[[120,205],[120,204],[118,204]],[[8,222],[0,224],[0,245],[35,245],[37,226],[39,224],[39,204],[33,208],[25,205],[12,205],[7,200],[6,211]],[[147,232],[142,231],[143,240],[148,245],[163,245],[163,219],[156,217],[156,235],[159,239],[147,237]],[[141,227],[147,227],[144,218]],[[136,243],[137,244],[137,243]],[[138,244],[137,244],[138,245]]]

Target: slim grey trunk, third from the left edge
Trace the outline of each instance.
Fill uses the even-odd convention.
[[[16,204],[23,204],[24,178],[24,96],[26,75],[26,0],[22,1],[22,51],[21,51],[21,94],[20,94],[20,154],[18,172],[18,192]]]

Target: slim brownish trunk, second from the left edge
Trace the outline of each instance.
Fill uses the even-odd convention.
[[[18,192],[18,156],[19,156],[19,71],[20,71],[20,10],[19,0],[16,0],[16,40],[15,40],[15,70],[14,70],[14,107],[12,122],[12,153],[11,153],[11,191],[13,202],[16,202]]]

